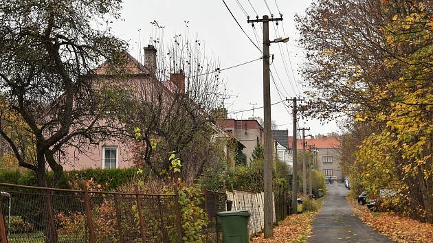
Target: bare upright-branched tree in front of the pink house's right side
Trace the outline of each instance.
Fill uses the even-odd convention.
[[[137,105],[132,125],[140,128],[144,141],[137,157],[159,174],[168,171],[169,152],[175,151],[184,163],[184,177],[193,181],[218,160],[211,159],[210,151],[221,151],[212,142],[222,131],[211,114],[223,106],[225,87],[218,62],[207,56],[201,40],[177,35],[168,45],[162,43],[153,43],[159,45],[156,67],[146,67],[155,69],[155,77],[133,88]]]

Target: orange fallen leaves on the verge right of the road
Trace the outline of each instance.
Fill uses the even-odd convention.
[[[374,213],[366,206],[358,205],[351,198],[348,198],[348,201],[362,221],[397,242],[433,242],[433,224],[412,220],[392,212]]]

